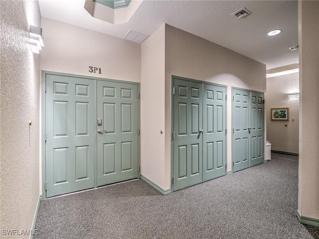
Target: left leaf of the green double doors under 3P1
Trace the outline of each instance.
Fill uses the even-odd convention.
[[[46,75],[46,197],[95,186],[94,85]]]

